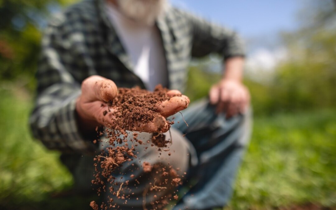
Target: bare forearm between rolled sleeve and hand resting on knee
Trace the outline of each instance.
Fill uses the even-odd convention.
[[[223,80],[234,80],[241,82],[243,80],[244,57],[235,56],[225,60]]]

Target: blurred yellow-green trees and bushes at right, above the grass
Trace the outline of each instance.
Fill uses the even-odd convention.
[[[257,114],[336,106],[336,25],[327,24],[336,15],[322,18],[317,12],[313,24],[283,34],[288,58],[275,68],[271,82],[245,79]]]

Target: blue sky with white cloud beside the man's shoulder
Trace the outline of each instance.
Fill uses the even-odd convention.
[[[247,43],[249,69],[272,70],[286,57],[279,32],[298,28],[302,0],[170,0],[212,22],[237,31]]]

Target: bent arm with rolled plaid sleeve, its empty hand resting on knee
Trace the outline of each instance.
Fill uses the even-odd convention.
[[[242,84],[245,49],[242,39],[234,31],[188,15],[192,25],[192,56],[201,57],[210,53],[223,56],[223,76],[210,89],[210,103],[216,112],[225,112],[226,117],[244,113],[249,106],[250,95]]]

